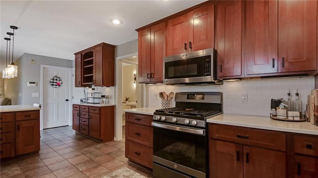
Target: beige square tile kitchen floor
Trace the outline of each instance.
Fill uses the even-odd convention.
[[[71,126],[41,131],[39,155],[0,163],[1,178],[101,178],[127,167],[148,178],[149,170],[128,163],[123,140],[100,143],[76,134]]]

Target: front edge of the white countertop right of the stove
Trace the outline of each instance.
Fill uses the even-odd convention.
[[[274,131],[285,131],[285,132],[292,132],[292,133],[318,135],[318,132],[315,130],[304,130],[304,129],[297,129],[297,128],[264,126],[264,125],[257,125],[257,124],[246,124],[246,123],[238,123],[238,122],[231,122],[231,121],[213,120],[213,119],[207,119],[207,122],[208,123],[219,123],[219,124],[225,124],[225,125],[233,125],[233,126],[250,127],[250,128],[259,128],[259,129],[266,129],[266,130],[274,130]]]

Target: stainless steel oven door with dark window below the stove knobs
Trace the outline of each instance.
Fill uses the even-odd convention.
[[[207,170],[205,129],[158,122],[152,122],[152,125],[154,177],[163,178],[166,176],[165,172],[172,171],[175,174],[185,174],[184,178],[205,178]],[[162,168],[166,168],[166,171],[162,171]]]

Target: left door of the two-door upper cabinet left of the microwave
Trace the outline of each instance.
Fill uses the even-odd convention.
[[[138,81],[150,82],[151,38],[150,27],[138,32]]]

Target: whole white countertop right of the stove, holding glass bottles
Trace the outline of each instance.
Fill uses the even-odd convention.
[[[293,133],[304,133],[318,135],[318,126],[310,122],[290,122],[270,119],[269,117],[239,115],[239,114],[222,114],[207,119],[209,123],[219,123],[226,125],[260,128],[267,130],[285,131]]]

